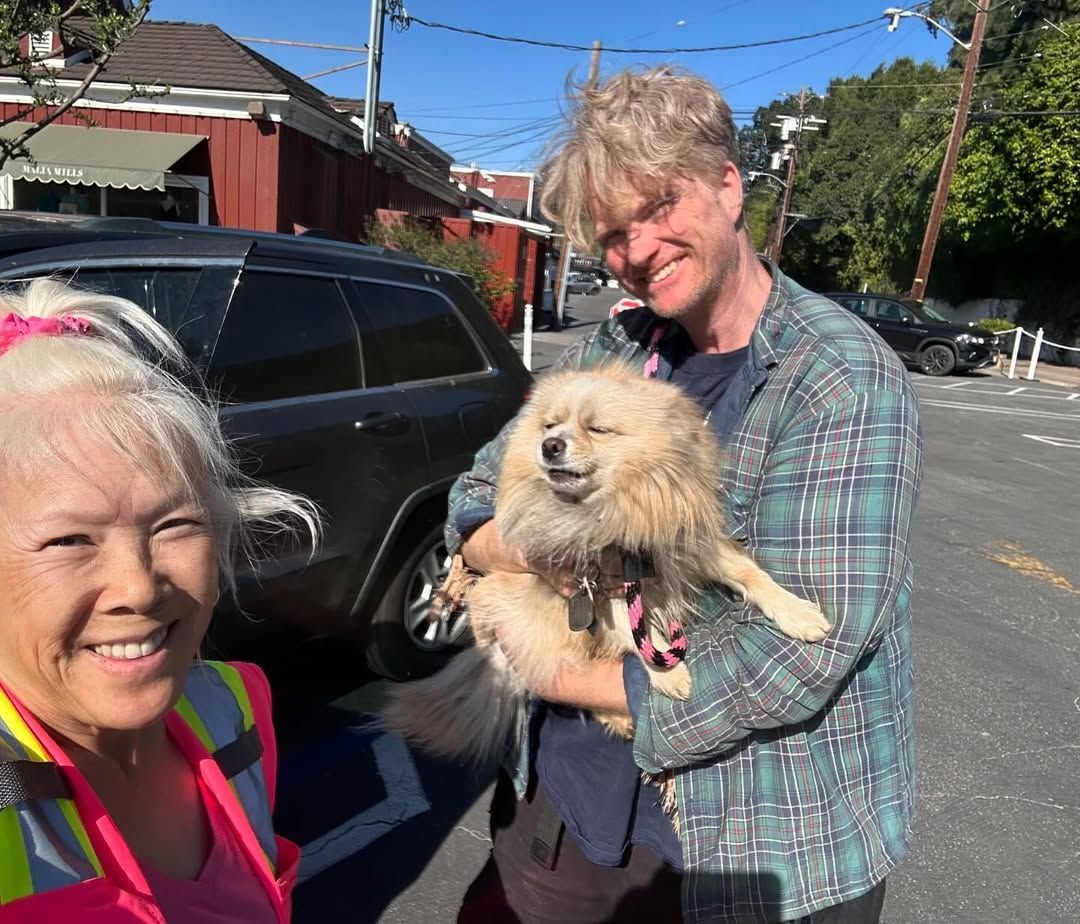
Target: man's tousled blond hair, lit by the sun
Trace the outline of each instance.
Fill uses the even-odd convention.
[[[659,199],[676,177],[719,177],[739,165],[731,108],[707,80],[671,66],[570,85],[563,131],[540,167],[541,210],[570,242],[595,243],[593,199],[617,219],[635,195]]]

